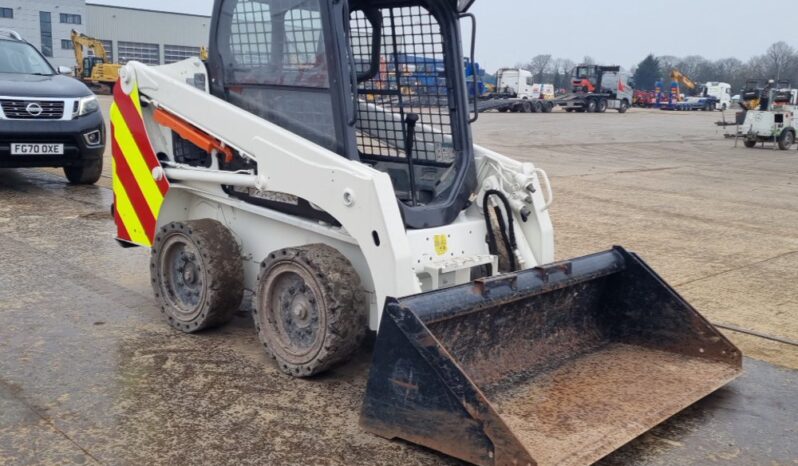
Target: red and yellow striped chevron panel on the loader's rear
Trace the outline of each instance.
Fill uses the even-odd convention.
[[[130,95],[121,83],[114,86],[111,144],[117,239],[151,247],[169,182],[152,176],[161,164],[147,136],[137,85]]]

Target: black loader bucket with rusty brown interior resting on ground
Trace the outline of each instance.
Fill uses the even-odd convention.
[[[616,247],[389,300],[362,426],[481,465],[591,464],[742,371]]]

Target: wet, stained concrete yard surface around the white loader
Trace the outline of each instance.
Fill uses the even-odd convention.
[[[549,173],[558,259],[622,245],[712,322],[796,341],[798,151],[735,148],[719,118],[483,114],[474,133]],[[0,170],[0,464],[459,464],[360,429],[368,345],[296,380],[248,300],[221,329],[172,330],[148,251],[113,240],[110,150],[105,174]],[[601,464],[798,464],[798,348],[724,333],[745,373]]]

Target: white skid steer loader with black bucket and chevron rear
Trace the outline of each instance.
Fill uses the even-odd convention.
[[[293,376],[378,331],[370,432],[475,464],[587,464],[741,354],[623,248],[552,263],[545,172],[472,142],[470,3],[216,0],[206,63],[120,70],[116,237],[151,248],[180,331],[253,291]]]

